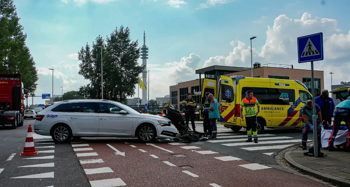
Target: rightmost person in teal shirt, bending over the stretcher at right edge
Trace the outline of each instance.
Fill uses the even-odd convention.
[[[350,96],[350,88],[348,89],[348,94]],[[334,121],[333,121],[333,130],[330,134],[329,141],[328,141],[328,150],[334,151],[334,140],[337,136],[337,133],[339,131],[339,127],[341,126],[342,121],[345,122],[346,127],[348,127],[348,134],[346,136],[346,142],[344,146],[344,150],[346,152],[350,152],[350,97],[346,98],[345,101],[340,102],[337,106],[335,106],[334,112]]]

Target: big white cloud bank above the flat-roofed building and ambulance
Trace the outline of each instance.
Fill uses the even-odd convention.
[[[309,13],[304,13],[300,19],[288,18],[286,15],[275,18],[273,26],[267,26],[266,38],[254,39],[265,40],[265,44],[252,49],[253,62],[293,64],[295,69],[310,69],[310,63],[299,64],[297,61],[297,37],[318,33],[320,30],[323,31],[324,60],[317,61],[314,65],[315,70],[324,71],[324,88],[330,89],[329,72],[335,73],[333,84],[350,81],[348,76],[350,31],[341,33],[342,29],[337,28],[337,20],[312,17]],[[192,53],[189,57],[183,57],[180,62],[167,63],[165,68],[150,68],[151,97],[169,94],[169,86],[175,85],[176,82],[199,78],[195,74],[195,70],[199,68],[211,65],[250,67],[250,41],[246,42],[249,44],[242,41],[228,41],[235,47],[227,56],[213,56],[202,63],[200,56]],[[159,75],[155,77],[152,74]]]

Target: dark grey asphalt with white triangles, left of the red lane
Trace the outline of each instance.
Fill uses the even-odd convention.
[[[0,187],[90,186],[70,144],[54,144],[50,137],[34,133],[38,155],[20,156],[29,124],[33,125],[34,120],[26,119],[24,125],[17,129],[0,129],[0,171],[3,169],[0,172]],[[11,154],[15,154],[12,159]]]

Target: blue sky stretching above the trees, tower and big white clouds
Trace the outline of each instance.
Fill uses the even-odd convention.
[[[348,0],[325,0],[325,5],[321,0],[207,0],[217,2],[208,3],[207,8],[200,8],[206,0],[177,2],[183,4],[175,7],[176,0],[14,0],[37,67],[43,70],[55,66],[66,76],[55,77],[54,94],[61,94],[59,86],[64,86],[65,92],[86,83],[80,81],[77,71],[62,68],[77,67],[79,62],[69,55],[76,54],[86,42],[92,44],[98,35],[105,38],[121,25],[130,28],[132,40],[139,40],[140,46],[145,30],[148,64],[159,64],[153,67],[180,62],[182,57],[195,53],[201,59],[198,68],[210,57],[228,56],[235,47],[230,45],[232,40],[236,45],[237,41],[247,43],[245,47],[248,47],[249,38],[257,36],[253,48],[261,51],[266,44],[267,26],[273,26],[274,19],[282,14],[300,19],[307,12],[313,18],[337,20],[337,28],[343,34],[350,29]],[[52,75],[40,72],[36,94],[51,93]],[[163,96],[163,92],[157,93],[154,90],[150,98]]]

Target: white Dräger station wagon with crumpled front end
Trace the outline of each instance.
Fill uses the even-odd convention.
[[[56,143],[79,137],[137,137],[142,143],[174,138],[170,120],[141,114],[119,102],[77,99],[55,102],[38,112],[34,132],[51,136]]]

